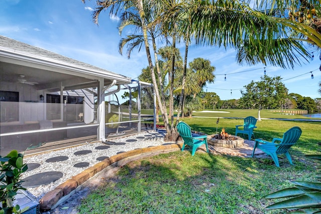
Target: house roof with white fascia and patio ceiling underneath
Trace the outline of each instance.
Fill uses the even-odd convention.
[[[25,79],[34,82],[37,90],[60,91],[61,87],[64,90],[96,88],[102,78],[104,85],[113,80],[117,85],[131,81],[128,77],[0,36],[1,82],[19,83],[19,79]]]

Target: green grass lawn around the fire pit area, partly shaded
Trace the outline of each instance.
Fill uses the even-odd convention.
[[[199,113],[198,113],[199,114]],[[245,117],[239,112],[238,117]],[[256,116],[256,115],[253,115]],[[285,115],[282,115],[285,116]],[[223,113],[220,117],[224,117]],[[234,117],[234,116],[233,116]],[[261,114],[262,118],[265,118]],[[292,116],[287,115],[288,118]],[[184,118],[193,130],[216,133],[216,118]],[[231,134],[243,119],[220,118]],[[271,158],[244,158],[176,151],[133,161],[105,180],[78,207],[80,213],[283,213],[267,210],[275,200],[262,196],[288,187],[291,180],[315,181],[317,162],[304,157],[317,153],[321,122],[262,120],[256,138],[282,137],[293,126],[302,129],[291,147],[294,165],[284,155],[280,167]],[[285,212],[284,212],[285,213]]]

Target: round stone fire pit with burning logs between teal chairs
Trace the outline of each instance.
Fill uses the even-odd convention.
[[[211,145],[225,148],[240,148],[244,143],[243,138],[228,134],[224,128],[220,134],[208,135],[207,141]]]

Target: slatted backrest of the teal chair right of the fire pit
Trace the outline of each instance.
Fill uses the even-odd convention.
[[[283,134],[282,141],[276,149],[277,154],[286,152],[301,136],[302,130],[298,126],[294,126]]]

